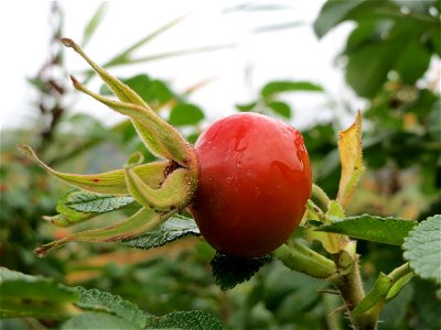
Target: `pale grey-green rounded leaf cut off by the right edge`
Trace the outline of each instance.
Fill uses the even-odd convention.
[[[405,258],[422,278],[441,284],[441,216],[420,222],[402,244]]]

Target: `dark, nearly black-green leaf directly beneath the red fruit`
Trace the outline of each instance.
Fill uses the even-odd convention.
[[[214,280],[220,289],[227,290],[250,279],[261,266],[270,261],[271,256],[268,254],[250,258],[237,258],[216,253],[209,264],[212,265]]]

